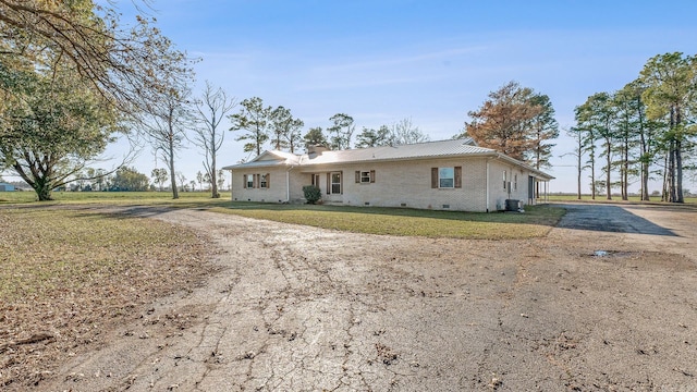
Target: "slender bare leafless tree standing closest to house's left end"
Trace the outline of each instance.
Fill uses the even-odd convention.
[[[216,158],[225,138],[225,133],[220,132],[218,126],[235,105],[236,101],[234,98],[229,98],[222,88],[215,88],[208,81],[206,81],[206,89],[204,90],[201,99],[196,101],[196,120],[204,126],[194,128],[196,134],[193,143],[204,150],[204,168],[211,179],[210,197],[212,198],[220,197],[220,193],[218,193],[218,181],[216,179],[218,174]]]

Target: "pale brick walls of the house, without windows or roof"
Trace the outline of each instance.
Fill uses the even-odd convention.
[[[489,199],[487,203],[487,161]],[[462,187],[431,188],[431,168],[462,168]],[[327,173],[341,171],[342,193],[327,194]],[[356,183],[355,173],[375,171],[375,182]],[[506,187],[503,172],[506,172]],[[268,188],[245,188],[244,174],[269,174]],[[286,175],[291,203],[304,203],[303,186],[319,174],[322,203],[345,206],[407,207],[437,210],[496,211],[505,199],[528,198],[526,171],[509,162],[490,158],[429,159],[412,161],[352,163],[341,167],[260,168],[235,170],[232,175],[232,199],[239,201],[284,203],[288,200]],[[517,176],[517,186],[515,185]],[[511,189],[508,183],[511,183]]]

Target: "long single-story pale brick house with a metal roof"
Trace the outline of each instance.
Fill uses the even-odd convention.
[[[317,185],[323,204],[489,212],[506,200],[536,204],[553,177],[472,139],[305,155],[265,151],[223,168],[232,173],[232,199],[305,203],[303,186]],[[510,203],[512,205],[512,203]]]

